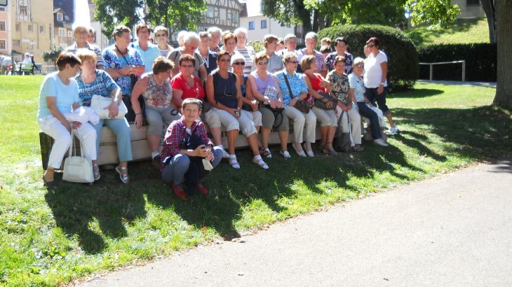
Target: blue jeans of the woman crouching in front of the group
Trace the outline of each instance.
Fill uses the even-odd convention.
[[[213,147],[213,162],[212,166],[217,167],[220,160],[222,160],[224,151],[218,146]],[[169,162],[168,165],[163,167],[162,180],[166,183],[174,183],[175,186],[183,183],[184,176],[189,170],[190,160],[188,155],[178,153]]]

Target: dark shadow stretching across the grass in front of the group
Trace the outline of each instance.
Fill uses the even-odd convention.
[[[461,158],[494,158],[512,151],[511,113],[483,106],[473,109],[393,109],[398,125],[405,130],[393,136],[406,146],[436,162],[445,162],[443,154]],[[426,126],[426,130],[407,126]],[[430,135],[436,135],[435,138]],[[446,145],[440,145],[440,142]],[[237,151],[242,168],[235,170],[221,164],[205,179],[211,193],[208,197],[195,195],[189,202],[182,202],[166,186],[149,162],[130,163],[130,185],[123,186],[117,174],[102,171],[102,179],[93,186],[65,183],[48,191],[46,202],[53,211],[55,222],[70,237],[78,237],[79,244],[88,253],[105,249],[105,237],[130,236],[126,226],[135,218],[147,216],[147,204],[172,209],[180,218],[196,228],[212,228],[220,236],[238,237],[234,223],[246,213],[253,200],[262,200],[271,211],[281,212],[288,207],[281,204],[283,197],[302,195],[297,184],[312,193],[325,190],[321,183],[332,181],[340,188],[358,193],[356,186],[347,186],[349,174],[361,179],[371,179],[375,174],[388,172],[400,180],[407,168],[420,173],[425,171],[411,162],[399,148],[382,148],[365,142],[361,153],[343,153],[337,156],[321,155],[314,148],[314,158],[292,159],[278,156],[278,147],[272,147],[274,158],[266,159],[270,169],[264,170],[250,162],[250,152]],[[443,154],[432,151],[436,146]],[[510,162],[508,162],[510,163]],[[511,165],[498,166],[500,172],[510,172]]]

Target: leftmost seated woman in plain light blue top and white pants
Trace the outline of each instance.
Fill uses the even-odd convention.
[[[81,61],[72,53],[62,53],[57,59],[59,71],[49,73],[43,80],[39,92],[39,112],[37,119],[41,131],[55,139],[48,159],[48,168],[43,181],[48,188],[55,187],[54,171],[62,164],[62,158],[71,146],[71,130],[80,139],[83,153],[88,160],[96,163],[96,130],[88,123],[68,123],[64,117],[72,109],[79,107],[79,90],[73,77],[79,71]],[[99,174],[94,170],[95,174]]]

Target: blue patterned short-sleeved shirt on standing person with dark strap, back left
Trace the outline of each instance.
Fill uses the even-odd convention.
[[[126,58],[126,59],[125,59]],[[119,57],[116,54],[116,46],[111,45],[103,51],[103,60],[105,61],[105,70],[108,69],[121,69],[123,66],[144,66],[142,57],[140,57],[139,51],[135,48],[128,47],[128,54],[124,57]],[[131,94],[132,92],[132,80],[130,76],[121,76],[114,79],[116,84],[121,87],[123,94]]]

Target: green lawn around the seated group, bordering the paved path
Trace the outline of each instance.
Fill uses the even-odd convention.
[[[55,286],[100,270],[151,260],[512,150],[511,113],[489,106],[494,89],[418,83],[389,95],[400,126],[391,146],[362,153],[283,160],[265,171],[238,151],[240,170],[222,162],[208,197],[181,202],[149,162],[130,164],[123,186],[112,170],[93,186],[41,182],[41,76],[0,76],[0,285]],[[290,150],[292,150],[290,148]]]

